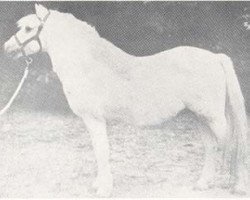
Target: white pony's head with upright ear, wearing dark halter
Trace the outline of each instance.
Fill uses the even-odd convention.
[[[19,31],[4,44],[4,50],[14,59],[44,50],[41,33],[50,11],[42,5],[35,5],[36,14],[21,18],[17,22]]]

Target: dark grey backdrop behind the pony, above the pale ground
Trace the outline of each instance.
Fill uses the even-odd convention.
[[[250,112],[250,2],[42,2],[70,12],[96,27],[99,34],[127,53],[142,56],[180,45],[226,53],[236,72]],[[34,13],[34,2],[0,2],[0,45],[17,29],[15,22]],[[0,54],[0,106],[14,92],[24,69],[21,61]],[[12,109],[70,113],[47,55],[34,66]]]

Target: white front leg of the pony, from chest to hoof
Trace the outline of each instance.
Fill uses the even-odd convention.
[[[113,177],[109,164],[109,142],[106,130],[106,121],[90,115],[83,117],[87,130],[92,139],[92,144],[97,160],[98,171],[93,187],[97,189],[97,195],[108,197],[113,189]]]

